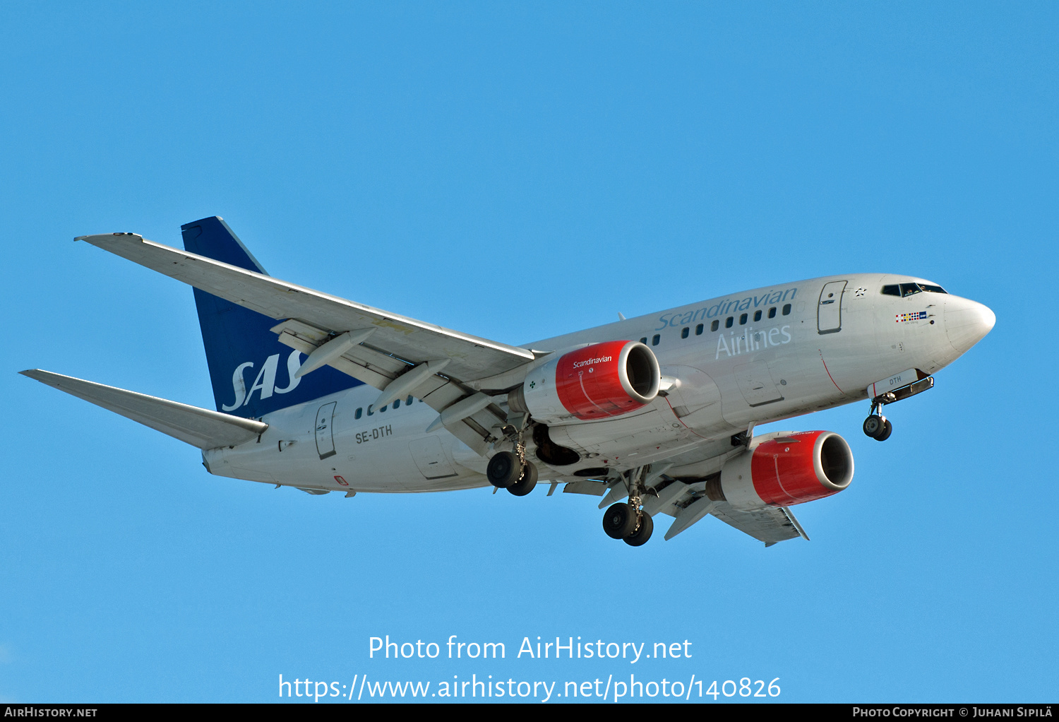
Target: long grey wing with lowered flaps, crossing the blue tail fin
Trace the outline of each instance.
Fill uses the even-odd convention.
[[[309,354],[305,360],[307,369],[326,364],[380,390],[389,387],[393,392],[399,388],[401,394],[414,394],[437,411],[461,404],[461,410],[477,409],[469,416],[443,415],[439,422],[479,454],[487,448],[491,429],[504,421],[504,415],[499,407],[489,405],[487,397],[475,393],[475,388],[467,382],[511,371],[536,358],[528,349],[347,301],[147,241],[134,233],[83,235],[76,240],[282,319],[272,331],[283,344]],[[399,376],[427,363],[431,368],[444,363],[444,376],[426,373],[429,369],[420,366],[415,374],[392,385]]]

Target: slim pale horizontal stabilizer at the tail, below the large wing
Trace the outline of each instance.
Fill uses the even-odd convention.
[[[268,428],[268,424],[253,419],[241,419],[51,371],[32,369],[19,373],[199,448],[234,446],[250,441]]]

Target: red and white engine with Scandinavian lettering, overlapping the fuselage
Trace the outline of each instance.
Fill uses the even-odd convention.
[[[658,358],[644,344],[606,341],[533,369],[507,403],[545,422],[607,419],[651,403],[661,381]]]

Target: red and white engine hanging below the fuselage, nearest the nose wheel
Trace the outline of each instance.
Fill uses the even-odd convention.
[[[854,455],[838,434],[780,432],[726,461],[706,495],[742,511],[789,507],[836,494],[852,478]]]

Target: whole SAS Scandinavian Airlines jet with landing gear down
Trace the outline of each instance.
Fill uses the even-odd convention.
[[[548,479],[603,497],[630,546],[712,515],[765,542],[808,535],[790,507],[849,486],[833,432],[755,425],[884,406],[985,337],[985,305],[920,278],[847,274],[740,292],[509,346],[269,276],[220,217],[184,249],[136,233],[78,236],[194,288],[216,410],[33,369],[21,373],[201,450],[216,476],[309,494]]]

